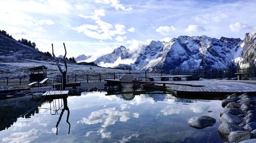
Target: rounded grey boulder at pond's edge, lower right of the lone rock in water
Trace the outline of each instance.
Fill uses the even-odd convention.
[[[238,130],[241,131],[243,130],[243,128],[230,123],[221,123],[221,125],[218,128],[219,133],[223,135],[228,135],[230,132],[238,131]]]

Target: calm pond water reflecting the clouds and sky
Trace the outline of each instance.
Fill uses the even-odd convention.
[[[0,142],[223,142],[218,134],[220,100],[182,99],[162,92],[105,94],[44,101],[26,118],[19,116],[40,99],[0,100]],[[215,118],[216,124],[204,129],[187,124],[202,115]]]

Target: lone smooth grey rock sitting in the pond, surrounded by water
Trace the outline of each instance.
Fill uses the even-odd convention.
[[[193,117],[188,120],[188,124],[194,128],[203,129],[214,126],[216,120],[209,116]]]

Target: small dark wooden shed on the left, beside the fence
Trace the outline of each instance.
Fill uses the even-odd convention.
[[[31,74],[29,75],[30,82],[40,82],[41,80],[47,77],[47,67],[46,66],[39,66],[39,67],[32,67],[28,69]]]

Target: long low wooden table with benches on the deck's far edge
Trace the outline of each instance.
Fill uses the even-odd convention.
[[[181,78],[185,78],[186,80],[192,80],[193,75],[154,76],[154,77],[147,77],[146,81],[154,81],[154,78],[161,78],[161,81],[166,81],[168,80],[168,78],[173,78],[174,81],[180,81]]]

